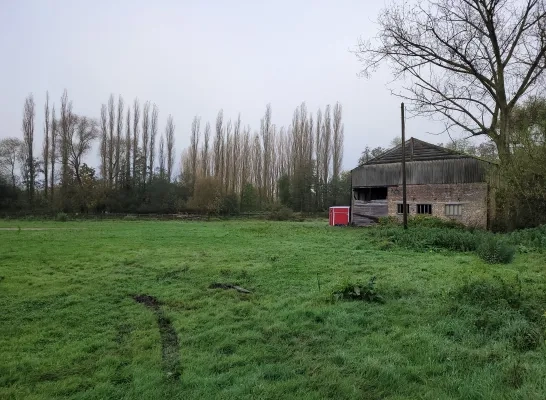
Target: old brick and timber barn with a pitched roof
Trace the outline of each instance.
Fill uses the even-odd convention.
[[[493,209],[488,170],[494,165],[422,140],[405,143],[408,215],[454,219],[488,228]],[[351,222],[402,217],[402,145],[351,171]]]

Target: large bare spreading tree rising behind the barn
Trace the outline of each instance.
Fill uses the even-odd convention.
[[[510,160],[514,107],[544,84],[546,0],[429,0],[393,4],[377,43],[356,55],[369,75],[383,62],[406,84],[410,111],[440,116],[446,130],[485,134]]]

